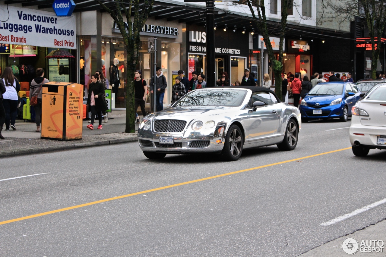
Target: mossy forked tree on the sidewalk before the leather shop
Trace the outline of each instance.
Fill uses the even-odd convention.
[[[112,0],[95,1],[111,15],[123,37],[127,53],[125,132],[134,133],[136,112],[136,110],[134,110],[134,71],[139,60],[139,50],[141,48],[141,38],[139,33],[142,31],[142,27],[145,25],[147,17],[152,10],[154,0],[113,0],[114,9],[108,8],[103,3],[112,2]],[[134,21],[132,21],[132,16]],[[127,26],[124,17],[127,20]]]

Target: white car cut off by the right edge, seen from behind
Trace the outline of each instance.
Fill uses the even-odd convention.
[[[386,83],[372,88],[352,107],[350,142],[356,156],[386,149]]]

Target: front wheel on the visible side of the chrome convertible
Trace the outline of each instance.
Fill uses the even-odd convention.
[[[224,148],[222,149],[222,159],[224,161],[237,161],[242,154],[244,140],[239,126],[231,125],[225,136]]]

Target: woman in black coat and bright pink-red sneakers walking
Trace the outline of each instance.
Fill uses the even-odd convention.
[[[98,82],[98,74],[94,74],[91,77],[91,84],[88,88],[87,105],[91,111],[91,124],[87,125],[88,128],[94,129],[95,115],[98,114],[99,126],[98,129],[102,129],[102,112],[107,110],[107,105],[103,95],[105,94],[105,88],[102,83]]]

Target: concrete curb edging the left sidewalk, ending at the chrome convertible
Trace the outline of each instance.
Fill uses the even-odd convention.
[[[1,151],[0,157],[11,157],[18,156],[24,154],[36,154],[42,152],[54,152],[59,150],[70,150],[70,149],[79,149],[84,147],[92,147],[99,145],[114,145],[120,143],[129,143],[138,141],[138,137],[126,137],[126,138],[114,138],[114,139],[105,139],[100,141],[91,141],[91,142],[83,142],[83,143],[75,143],[75,144],[67,144],[67,145],[51,145],[46,147],[31,147],[25,149],[17,149],[17,150],[9,150],[9,151]]]

